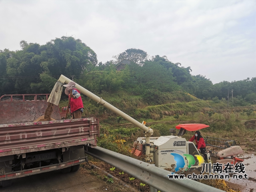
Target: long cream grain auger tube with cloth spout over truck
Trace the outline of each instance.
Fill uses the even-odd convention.
[[[52,92],[51,92],[50,97],[47,100],[47,102],[54,103],[54,104],[59,103],[59,101],[60,101],[60,95],[59,94],[61,94],[60,88],[62,89],[62,86],[58,86],[58,85],[59,84],[62,84],[62,85],[63,84],[68,84],[70,81],[72,81],[72,80],[65,77],[64,75],[61,75],[60,78],[58,79],[58,82],[56,82],[56,85],[52,89]],[[87,89],[83,88],[82,86],[76,84],[76,89],[79,90],[81,93],[85,94],[86,96],[88,96],[89,98],[91,98],[92,100],[98,102],[99,104],[108,108],[112,112],[121,116],[122,118],[128,120],[129,122],[131,122],[132,124],[134,124],[135,126],[140,128],[141,130],[143,130],[145,132],[145,138],[146,138],[146,161],[150,161],[150,159],[152,161],[154,161],[154,159],[153,159],[154,156],[150,157],[150,136],[152,136],[152,134],[153,134],[153,130],[151,128],[146,127],[144,124],[136,121],[134,118],[128,116],[127,114],[125,114],[124,112],[119,110],[118,108],[112,106],[111,104],[109,104],[108,102],[106,102],[102,98],[96,96],[95,94],[88,91]]]

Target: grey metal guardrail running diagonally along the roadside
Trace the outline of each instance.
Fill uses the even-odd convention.
[[[168,174],[171,174],[170,171],[98,146],[96,148],[88,147],[88,151],[85,150],[85,152],[123,170],[161,192],[223,192],[217,188],[190,179],[170,180],[168,178]]]

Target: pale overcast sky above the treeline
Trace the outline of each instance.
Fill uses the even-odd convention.
[[[79,38],[99,62],[128,48],[218,83],[256,77],[256,0],[0,0],[0,50]]]

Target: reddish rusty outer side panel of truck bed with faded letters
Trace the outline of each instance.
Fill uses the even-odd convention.
[[[0,124],[0,156],[81,144],[96,145],[97,118]]]

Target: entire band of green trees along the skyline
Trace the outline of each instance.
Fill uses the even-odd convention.
[[[175,90],[200,99],[221,100],[233,93],[234,105],[256,104],[256,77],[212,84],[203,75],[193,76],[190,67],[173,63],[166,56],[148,57],[140,49],[127,49],[106,63],[79,39],[63,36],[45,45],[20,42],[21,50],[0,50],[0,95],[49,93],[61,74],[74,78],[88,90],[126,91],[157,98],[159,93]],[[116,65],[130,60],[121,71]]]

